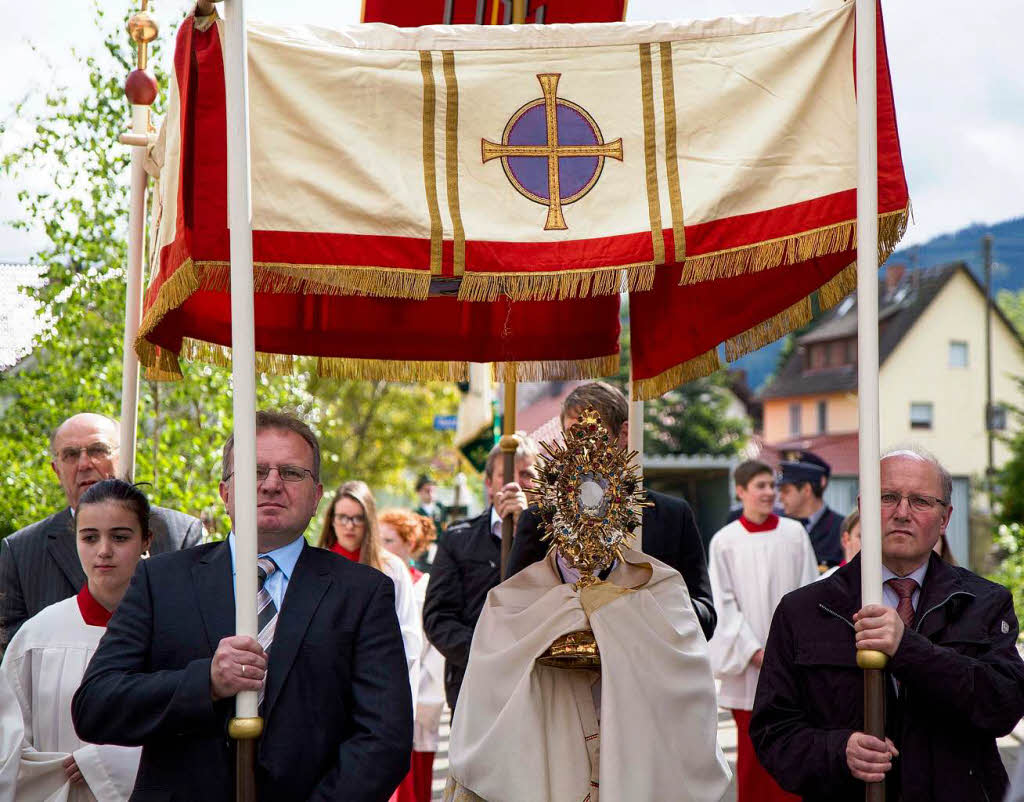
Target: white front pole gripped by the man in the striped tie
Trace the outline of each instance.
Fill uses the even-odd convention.
[[[252,200],[249,182],[249,78],[244,0],[224,2],[227,114],[227,225],[231,253],[231,386],[234,413],[234,632],[256,637],[256,335],[253,312]],[[238,694],[239,720],[257,718],[256,691]],[[242,727],[243,730],[246,727]],[[258,731],[257,733],[258,734]],[[253,735],[248,735],[253,737]]]

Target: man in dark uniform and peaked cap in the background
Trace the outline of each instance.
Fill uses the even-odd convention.
[[[809,451],[786,452],[778,464],[778,500],[786,517],[807,530],[821,571],[843,561],[844,516],[824,503],[831,466]]]

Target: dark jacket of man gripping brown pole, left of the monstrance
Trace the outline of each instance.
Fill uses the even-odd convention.
[[[444,695],[453,710],[466,675],[473,628],[487,593],[501,581],[501,541],[490,533],[490,507],[450,525],[434,555],[423,630],[444,656]]]

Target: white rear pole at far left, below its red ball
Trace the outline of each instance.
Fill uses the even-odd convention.
[[[150,107],[132,105],[131,132],[148,133]],[[125,336],[121,371],[121,473],[135,478],[135,431],[138,423],[138,356],[135,336],[142,321],[142,240],[145,230],[145,145],[131,149],[131,196],[128,208],[128,263],[125,267]]]

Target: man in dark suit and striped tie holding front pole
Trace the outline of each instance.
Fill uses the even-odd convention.
[[[233,520],[231,446],[220,494]],[[302,537],[324,492],[308,426],[259,413],[256,461],[266,650],[230,634],[233,534],[144,560],[75,694],[75,727],[90,743],[142,747],[134,802],[221,802],[234,798],[233,697],[255,690],[260,800],[384,802],[413,748],[394,586]]]

